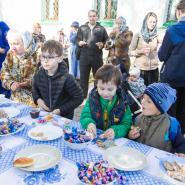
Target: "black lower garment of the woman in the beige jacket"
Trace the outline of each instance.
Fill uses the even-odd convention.
[[[159,81],[159,70],[158,68],[150,71],[141,70],[140,76],[144,79],[145,85],[148,86]]]

